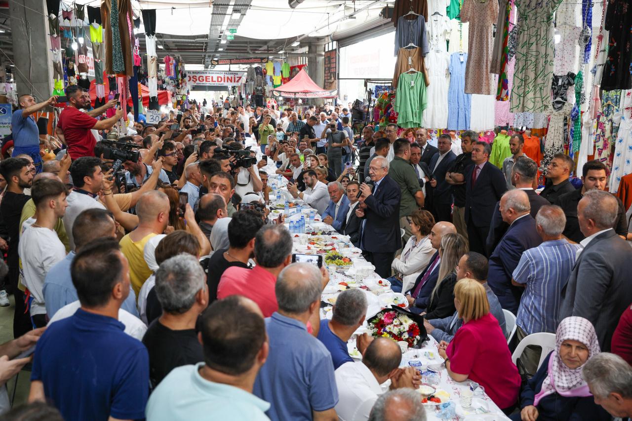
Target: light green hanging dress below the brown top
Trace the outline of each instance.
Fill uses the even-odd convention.
[[[418,71],[399,75],[393,107],[398,113],[398,126],[420,127],[427,107],[425,76]]]

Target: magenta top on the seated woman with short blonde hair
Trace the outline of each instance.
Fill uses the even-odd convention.
[[[446,355],[453,372],[467,374],[468,379],[485,387],[501,409],[518,400],[520,374],[511,362],[498,320],[491,313],[463,324],[447,346]]]

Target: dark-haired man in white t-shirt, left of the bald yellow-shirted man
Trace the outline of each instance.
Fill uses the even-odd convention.
[[[71,250],[75,250],[73,240],[73,224],[75,218],[86,209],[106,209],[99,202],[97,194],[103,188],[103,171],[101,160],[97,157],[85,156],[75,159],[70,167],[70,175],[75,185],[68,195],[68,209],[64,214],[64,227],[68,233]]]

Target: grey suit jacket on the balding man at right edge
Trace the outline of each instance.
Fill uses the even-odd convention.
[[[583,248],[562,286],[559,320],[571,315],[590,320],[602,351],[610,351],[612,333],[632,303],[631,261],[632,248],[609,229]]]

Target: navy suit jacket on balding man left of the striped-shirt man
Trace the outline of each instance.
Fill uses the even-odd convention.
[[[525,288],[511,284],[513,271],[518,266],[522,253],[529,248],[537,247],[540,243],[542,238],[535,229],[535,219],[531,215],[523,216],[509,226],[494,253],[489,257],[487,283],[498,297],[501,307],[513,314],[518,312],[520,297],[525,291]]]

